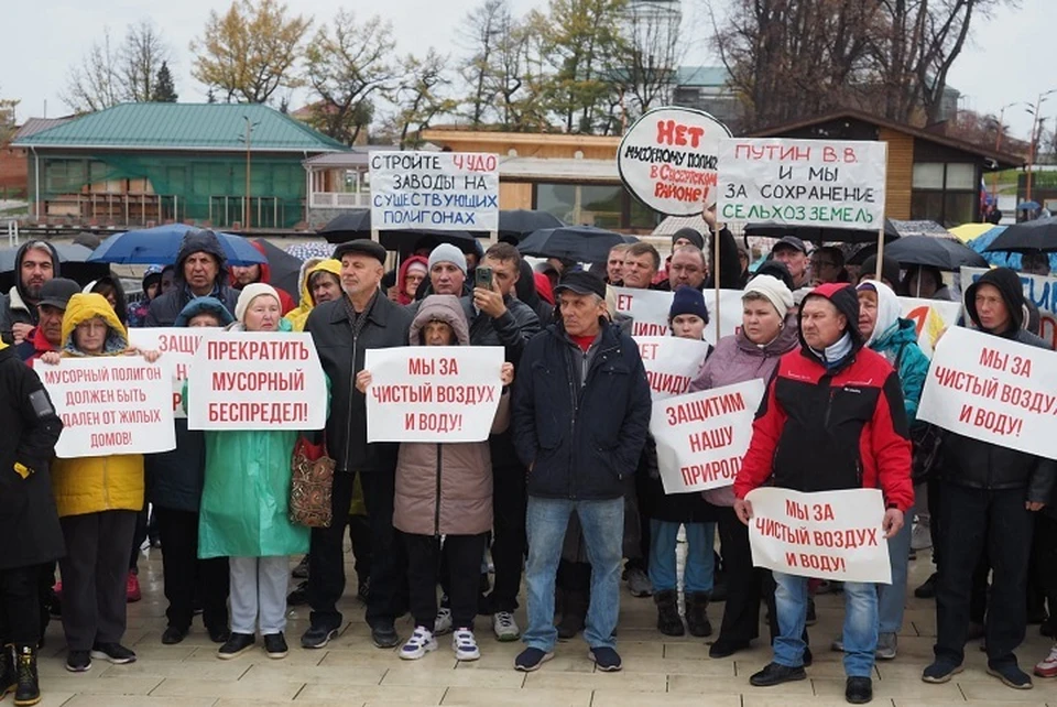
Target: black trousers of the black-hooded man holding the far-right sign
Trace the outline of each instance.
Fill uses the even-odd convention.
[[[942,570],[936,588],[936,659],[960,665],[969,630],[973,573],[988,551],[993,583],[988,603],[988,664],[1016,662],[1024,640],[1027,563],[1034,515],[1024,508],[1024,489],[987,491],[944,483]]]

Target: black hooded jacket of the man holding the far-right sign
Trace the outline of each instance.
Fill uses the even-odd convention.
[[[1022,329],[1024,322],[1024,291],[1017,273],[1009,268],[996,268],[983,273],[966,289],[966,314],[980,328],[977,313],[977,291],[981,285],[992,285],[1002,293],[1010,312],[1011,322],[1005,331],[987,331],[991,336],[1018,341],[1040,349],[1050,346],[1029,331]],[[1025,489],[1025,500],[1048,503],[1054,488],[1057,461],[1025,452],[966,437],[952,432],[944,433],[940,449],[940,476],[949,483],[974,489]]]

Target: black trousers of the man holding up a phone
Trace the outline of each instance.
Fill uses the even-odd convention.
[[[492,611],[515,611],[528,546],[525,534],[525,512],[528,508],[525,469],[522,466],[495,467],[493,479],[492,564],[495,566],[495,586],[489,608]]]

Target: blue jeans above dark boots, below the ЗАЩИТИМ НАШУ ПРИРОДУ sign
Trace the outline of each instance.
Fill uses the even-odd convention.
[[[716,523],[673,523],[650,520],[650,583],[654,591],[678,587],[675,546],[679,526],[686,527],[686,566],[683,591],[712,590],[716,569]]]

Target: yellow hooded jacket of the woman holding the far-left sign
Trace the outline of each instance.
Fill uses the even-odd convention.
[[[74,346],[74,329],[92,317],[102,317],[110,329],[103,356],[119,356],[128,349],[128,334],[106,297],[75,294],[63,317],[63,356],[83,356]],[[61,518],[139,511],[143,508],[143,455],[56,459],[52,466],[52,490]]]

